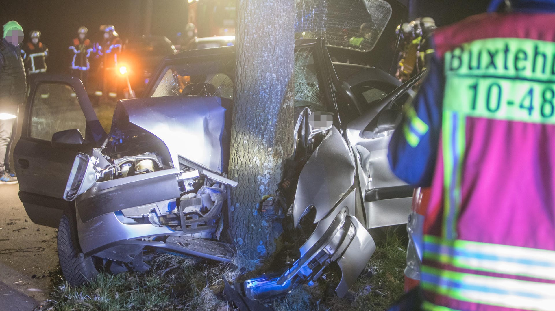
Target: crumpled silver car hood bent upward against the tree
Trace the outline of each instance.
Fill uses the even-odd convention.
[[[221,173],[227,170],[229,161],[229,108],[229,100],[219,97],[125,99],[118,101],[114,124],[127,115],[130,123],[157,136],[168,147],[174,167],[179,167],[181,156]]]

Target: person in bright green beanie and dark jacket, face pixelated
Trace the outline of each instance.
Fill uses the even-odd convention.
[[[9,21],[3,30],[0,40],[0,185],[17,183],[9,170],[9,149],[14,139],[18,107],[27,90],[20,54],[23,28],[16,21]]]

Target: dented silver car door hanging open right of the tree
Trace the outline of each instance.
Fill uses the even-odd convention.
[[[347,125],[369,229],[406,223],[410,214],[413,188],[393,174],[387,154],[391,135],[402,118],[402,107],[412,101],[417,83],[425,74],[398,86]]]

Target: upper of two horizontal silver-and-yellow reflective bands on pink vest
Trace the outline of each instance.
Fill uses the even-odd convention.
[[[457,268],[555,281],[555,252],[425,236],[424,258]]]

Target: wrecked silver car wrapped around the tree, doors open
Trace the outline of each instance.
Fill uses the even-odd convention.
[[[253,300],[316,282],[331,263],[344,295],[374,252],[368,230],[410,212],[412,188],[389,170],[387,145],[420,78],[401,85],[374,67],[332,63],[321,39],[295,46],[294,182],[276,201],[283,221],[314,231],[283,272],[235,288]],[[33,222],[59,228],[70,284],[101,268],[144,271],[158,251],[231,260],[234,66],[235,47],[166,58],[145,98],[118,102],[108,134],[80,80],[34,81],[15,151],[19,197]]]

